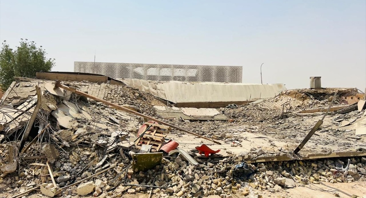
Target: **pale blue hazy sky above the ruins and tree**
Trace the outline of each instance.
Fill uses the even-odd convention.
[[[366,87],[365,0],[0,0],[0,40],[74,61],[243,66],[244,83]]]

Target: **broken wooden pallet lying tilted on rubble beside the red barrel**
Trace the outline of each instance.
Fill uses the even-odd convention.
[[[171,128],[169,126],[150,122],[145,122],[145,125],[147,127],[150,126],[150,129],[147,130],[138,141],[136,141],[135,146],[136,148],[141,149],[143,144],[152,145],[151,151],[157,152],[164,143],[164,139],[170,132]]]

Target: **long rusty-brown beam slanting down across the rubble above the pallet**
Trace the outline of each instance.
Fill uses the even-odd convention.
[[[91,99],[96,100],[96,101],[98,101],[98,102],[102,102],[102,103],[104,103],[104,104],[108,104],[109,106],[112,106],[112,107],[114,107],[114,108],[116,108],[116,109],[118,109],[118,110],[126,111],[126,112],[128,112],[128,113],[135,114],[135,115],[141,116],[141,117],[146,118],[146,119],[150,119],[150,120],[155,121],[155,122],[159,122],[159,123],[161,123],[161,124],[163,124],[163,125],[167,125],[167,126],[170,126],[170,127],[174,128],[174,129],[178,129],[178,130],[180,130],[180,131],[186,132],[186,133],[188,133],[188,134],[191,134],[191,135],[194,135],[194,136],[197,136],[197,137],[203,138],[203,139],[205,139],[205,140],[212,141],[212,142],[214,142],[214,143],[216,143],[216,144],[221,144],[221,143],[220,143],[220,142],[218,142],[218,141],[212,140],[212,139],[210,139],[210,138],[208,138],[208,137],[204,137],[204,136],[198,135],[197,133],[190,132],[190,131],[188,131],[188,130],[186,130],[186,129],[182,129],[182,128],[178,127],[178,126],[175,126],[175,125],[169,124],[168,122],[161,121],[161,120],[156,119],[156,118],[153,118],[153,117],[151,117],[151,116],[148,116],[148,115],[145,115],[145,114],[142,114],[142,113],[138,113],[138,112],[136,112],[136,111],[134,111],[134,110],[131,110],[131,109],[129,109],[129,108],[119,106],[118,104],[108,102],[108,101],[106,101],[106,100],[103,100],[103,99],[97,98],[97,97],[92,96],[92,95],[90,95],[90,94],[86,94],[85,92],[82,92],[82,91],[75,90],[75,89],[73,89],[73,88],[67,87],[67,86],[65,86],[65,85],[62,85],[60,80],[57,80],[57,81],[56,81],[56,83],[55,83],[55,88],[57,88],[57,87],[63,88],[63,89],[68,90],[68,91],[71,91],[71,92],[73,92],[73,93],[75,93],[75,94],[78,94],[78,95],[85,96],[85,97],[87,97],[87,98],[91,98]]]

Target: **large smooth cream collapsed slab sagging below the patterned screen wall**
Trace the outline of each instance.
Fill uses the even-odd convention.
[[[140,79],[121,81],[140,91],[175,103],[176,107],[196,108],[220,108],[232,103],[241,105],[274,97],[286,89],[283,84],[156,82]]]

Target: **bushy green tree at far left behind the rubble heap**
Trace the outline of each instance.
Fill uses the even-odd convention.
[[[51,71],[55,59],[47,59],[42,46],[37,47],[34,41],[20,39],[15,50],[4,41],[0,51],[0,84],[7,90],[15,76],[34,78],[38,71]]]

